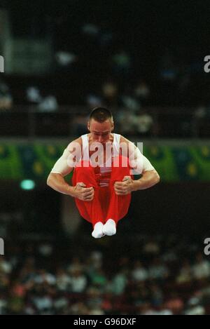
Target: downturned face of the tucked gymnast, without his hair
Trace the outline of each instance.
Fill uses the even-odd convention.
[[[113,130],[113,122],[111,120],[97,122],[91,119],[87,123],[87,129],[90,131],[94,142],[104,144],[109,141],[111,131]]]

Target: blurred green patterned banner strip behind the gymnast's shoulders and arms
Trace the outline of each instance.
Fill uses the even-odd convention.
[[[164,182],[210,181],[210,145],[169,145],[162,142],[144,146],[144,155],[153,163]],[[67,143],[66,143],[67,145]],[[64,142],[0,142],[0,179],[45,180],[61,156]]]

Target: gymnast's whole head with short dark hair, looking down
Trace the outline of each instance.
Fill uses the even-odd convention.
[[[114,128],[113,115],[105,107],[95,107],[90,112],[87,122],[87,129],[92,134],[92,138],[97,142],[107,142]]]

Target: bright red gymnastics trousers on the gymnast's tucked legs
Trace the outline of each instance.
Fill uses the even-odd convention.
[[[123,156],[118,156],[118,158],[119,166],[116,167],[112,164],[108,187],[99,186],[90,162],[81,161],[73,171],[73,186],[78,182],[83,182],[86,187],[94,187],[94,199],[92,201],[81,201],[75,198],[80,215],[91,222],[93,226],[97,222],[106,222],[110,218],[115,220],[117,224],[118,220],[125,217],[130,207],[131,194],[118,196],[113,187],[115,182],[121,182],[125,176],[130,176],[133,179],[133,176],[130,175],[128,159],[126,159],[127,166],[122,166],[122,162],[125,163],[125,158],[123,159]]]

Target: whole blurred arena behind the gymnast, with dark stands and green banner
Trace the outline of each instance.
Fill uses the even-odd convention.
[[[210,314],[209,4],[90,2],[0,4],[0,314]],[[99,106],[160,183],[93,239],[46,180]]]

